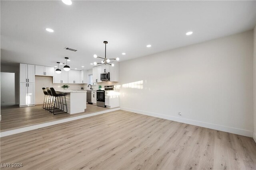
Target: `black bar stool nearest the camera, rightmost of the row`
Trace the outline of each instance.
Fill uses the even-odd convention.
[[[53,104],[53,111],[51,109],[51,113],[54,114],[54,112],[59,112],[59,111],[62,111],[61,113],[67,113],[68,111],[68,108],[67,108],[67,102],[66,102],[66,95],[64,94],[57,94],[54,90],[54,88],[50,88],[51,92],[52,92],[52,96],[54,97],[54,100],[52,101],[54,104]],[[65,104],[63,102],[63,97],[65,99]],[[58,107],[57,107],[57,102],[58,102]],[[56,104],[56,109],[58,109],[57,111],[55,111],[55,104]],[[66,106],[66,111],[64,111],[64,105]],[[60,109],[61,107],[61,109]],[[60,114],[60,113],[56,113],[56,114]],[[56,115],[54,114],[54,115]]]

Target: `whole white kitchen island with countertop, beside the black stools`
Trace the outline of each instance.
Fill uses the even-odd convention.
[[[86,90],[56,90],[56,92],[66,95],[67,113],[81,113],[86,109]],[[65,104],[64,100],[63,102]],[[64,107],[64,111],[66,111],[66,107]]]

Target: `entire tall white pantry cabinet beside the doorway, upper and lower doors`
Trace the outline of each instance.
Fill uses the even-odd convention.
[[[35,105],[35,65],[20,63],[20,107]]]

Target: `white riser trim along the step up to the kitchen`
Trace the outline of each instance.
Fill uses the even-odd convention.
[[[37,124],[37,125],[22,127],[22,128],[18,128],[18,129],[9,130],[9,131],[3,131],[3,132],[0,132],[0,137],[14,135],[16,133],[31,131],[31,130],[34,130],[34,129],[39,129],[39,128],[42,128],[42,127],[56,125],[56,124],[59,124],[59,123],[64,123],[64,122],[73,121],[73,120],[77,120],[77,119],[82,119],[82,118],[85,118],[85,117],[100,115],[100,114],[103,114],[103,113],[108,113],[108,112],[116,111],[116,110],[120,110],[120,107],[113,108],[113,109],[108,109],[108,110],[103,110],[103,111],[98,111],[98,112],[95,112],[95,113],[89,113],[89,114],[86,114],[86,115],[78,115],[78,116],[69,117],[69,118],[65,118],[65,119],[60,119],[60,120],[56,120],[56,121],[49,121],[49,122],[46,122],[46,123],[40,123],[40,124]]]

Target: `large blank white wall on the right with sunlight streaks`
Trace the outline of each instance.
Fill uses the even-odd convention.
[[[123,61],[119,70],[121,109],[252,137],[253,31]]]

